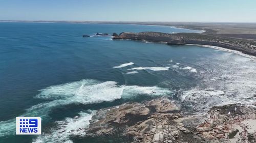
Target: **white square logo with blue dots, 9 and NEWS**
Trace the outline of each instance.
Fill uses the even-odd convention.
[[[16,134],[41,134],[41,118],[16,117]]]

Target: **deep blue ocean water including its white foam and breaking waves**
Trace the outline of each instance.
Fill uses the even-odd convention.
[[[95,110],[129,101],[165,96],[185,111],[200,112],[255,100],[256,63],[240,54],[94,36],[144,31],[199,32],[150,25],[0,23],[0,142],[90,142],[81,139],[86,132],[68,131],[88,127]],[[44,134],[15,135],[17,116],[41,117]]]

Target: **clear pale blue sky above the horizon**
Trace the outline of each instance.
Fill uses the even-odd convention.
[[[0,20],[256,22],[256,0],[0,0]]]

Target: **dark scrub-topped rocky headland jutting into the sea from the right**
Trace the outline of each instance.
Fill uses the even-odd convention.
[[[166,42],[167,45],[199,44],[238,50],[256,56],[256,42],[246,39],[225,38],[198,33],[166,34],[159,32],[121,33],[113,40],[130,39],[150,42]]]

